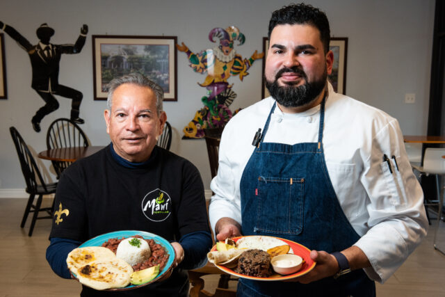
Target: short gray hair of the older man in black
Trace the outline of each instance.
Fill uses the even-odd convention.
[[[106,99],[106,108],[111,111],[113,105],[113,93],[114,91],[124,83],[132,83],[136,86],[147,87],[156,95],[156,113],[161,115],[162,101],[164,99],[164,91],[157,83],[150,81],[143,74],[130,73],[125,74],[122,77],[117,77],[108,83],[108,99]]]

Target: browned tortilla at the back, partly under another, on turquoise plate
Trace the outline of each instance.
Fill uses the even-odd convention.
[[[72,273],[78,274],[78,268],[93,261],[109,261],[116,255],[108,248],[102,246],[88,246],[86,248],[74,248],[67,257],[67,265]]]

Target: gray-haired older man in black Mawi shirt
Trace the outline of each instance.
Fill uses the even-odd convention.
[[[69,215],[54,220],[47,259],[63,278],[70,278],[67,254],[99,234],[116,230],[152,232],[172,242],[179,264],[168,280],[124,296],[187,296],[186,269],[204,264],[211,234],[204,186],[197,168],[156,146],[166,115],[163,91],[140,74],[113,79],[104,111],[111,144],[76,161],[60,177],[56,205]],[[149,200],[162,194],[163,211]],[[120,296],[83,287],[81,296]]]

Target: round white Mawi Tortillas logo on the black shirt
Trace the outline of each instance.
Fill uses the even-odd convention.
[[[172,213],[172,200],[168,193],[156,188],[149,192],[142,200],[144,215],[154,222],[161,222]]]

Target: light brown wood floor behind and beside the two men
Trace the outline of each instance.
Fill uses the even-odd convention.
[[[0,297],[79,296],[80,284],[58,278],[45,259],[50,220],[38,220],[32,237],[29,222],[24,229],[19,227],[25,204],[24,199],[0,199]],[[440,230],[445,237],[445,225]],[[432,226],[405,264],[385,284],[377,285],[377,296],[445,296],[445,255],[433,248],[434,233]],[[205,288],[214,291],[218,279],[206,276],[204,280]]]

